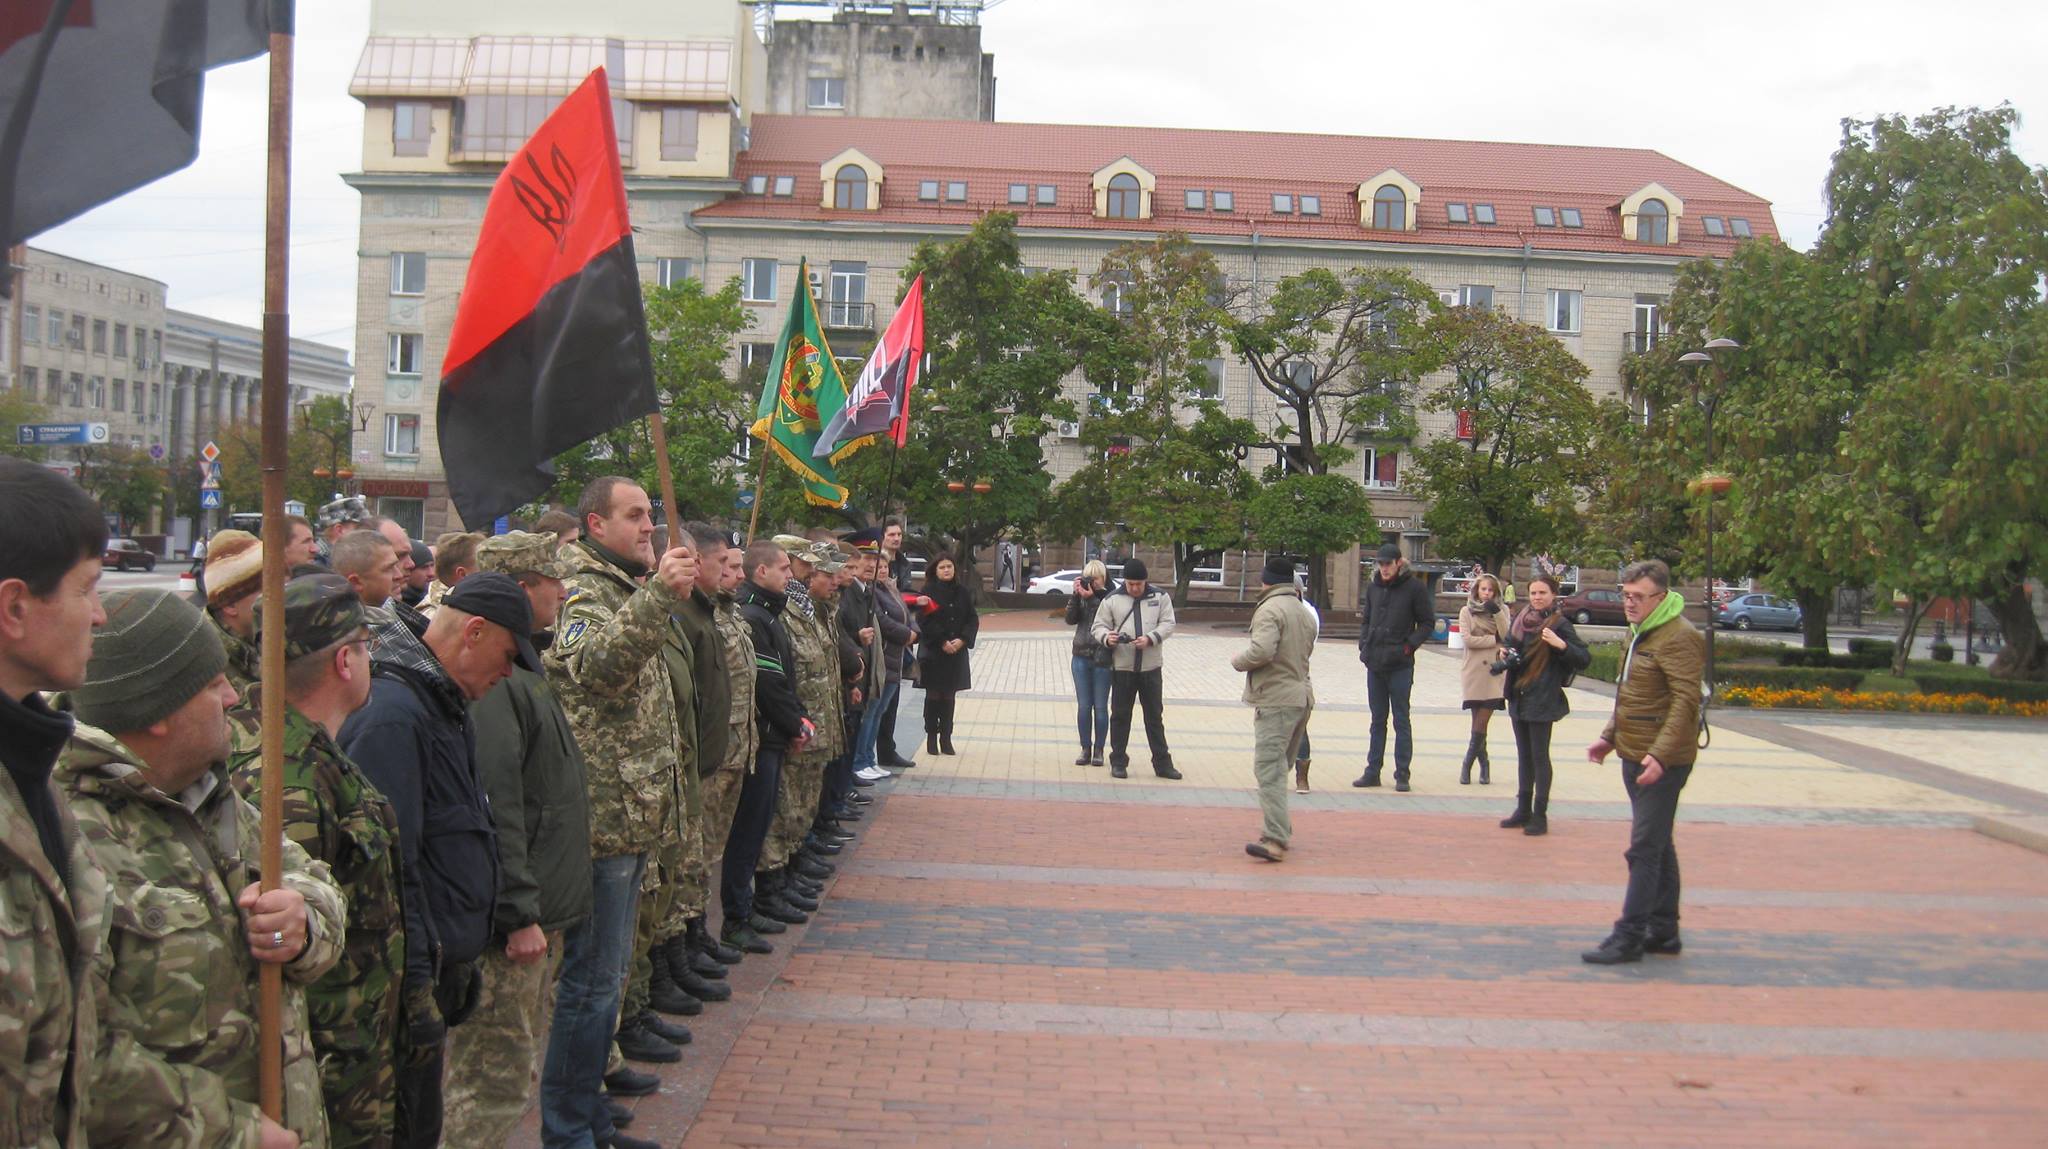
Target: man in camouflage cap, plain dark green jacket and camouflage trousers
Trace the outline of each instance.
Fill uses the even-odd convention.
[[[532,604],[532,645],[547,649],[569,573],[555,537],[512,530],[473,545],[473,555],[477,571],[518,580]],[[514,668],[469,717],[502,881],[477,1010],[449,1030],[442,1141],[504,1145],[535,1094],[563,934],[590,918],[590,791],[545,674]]]

